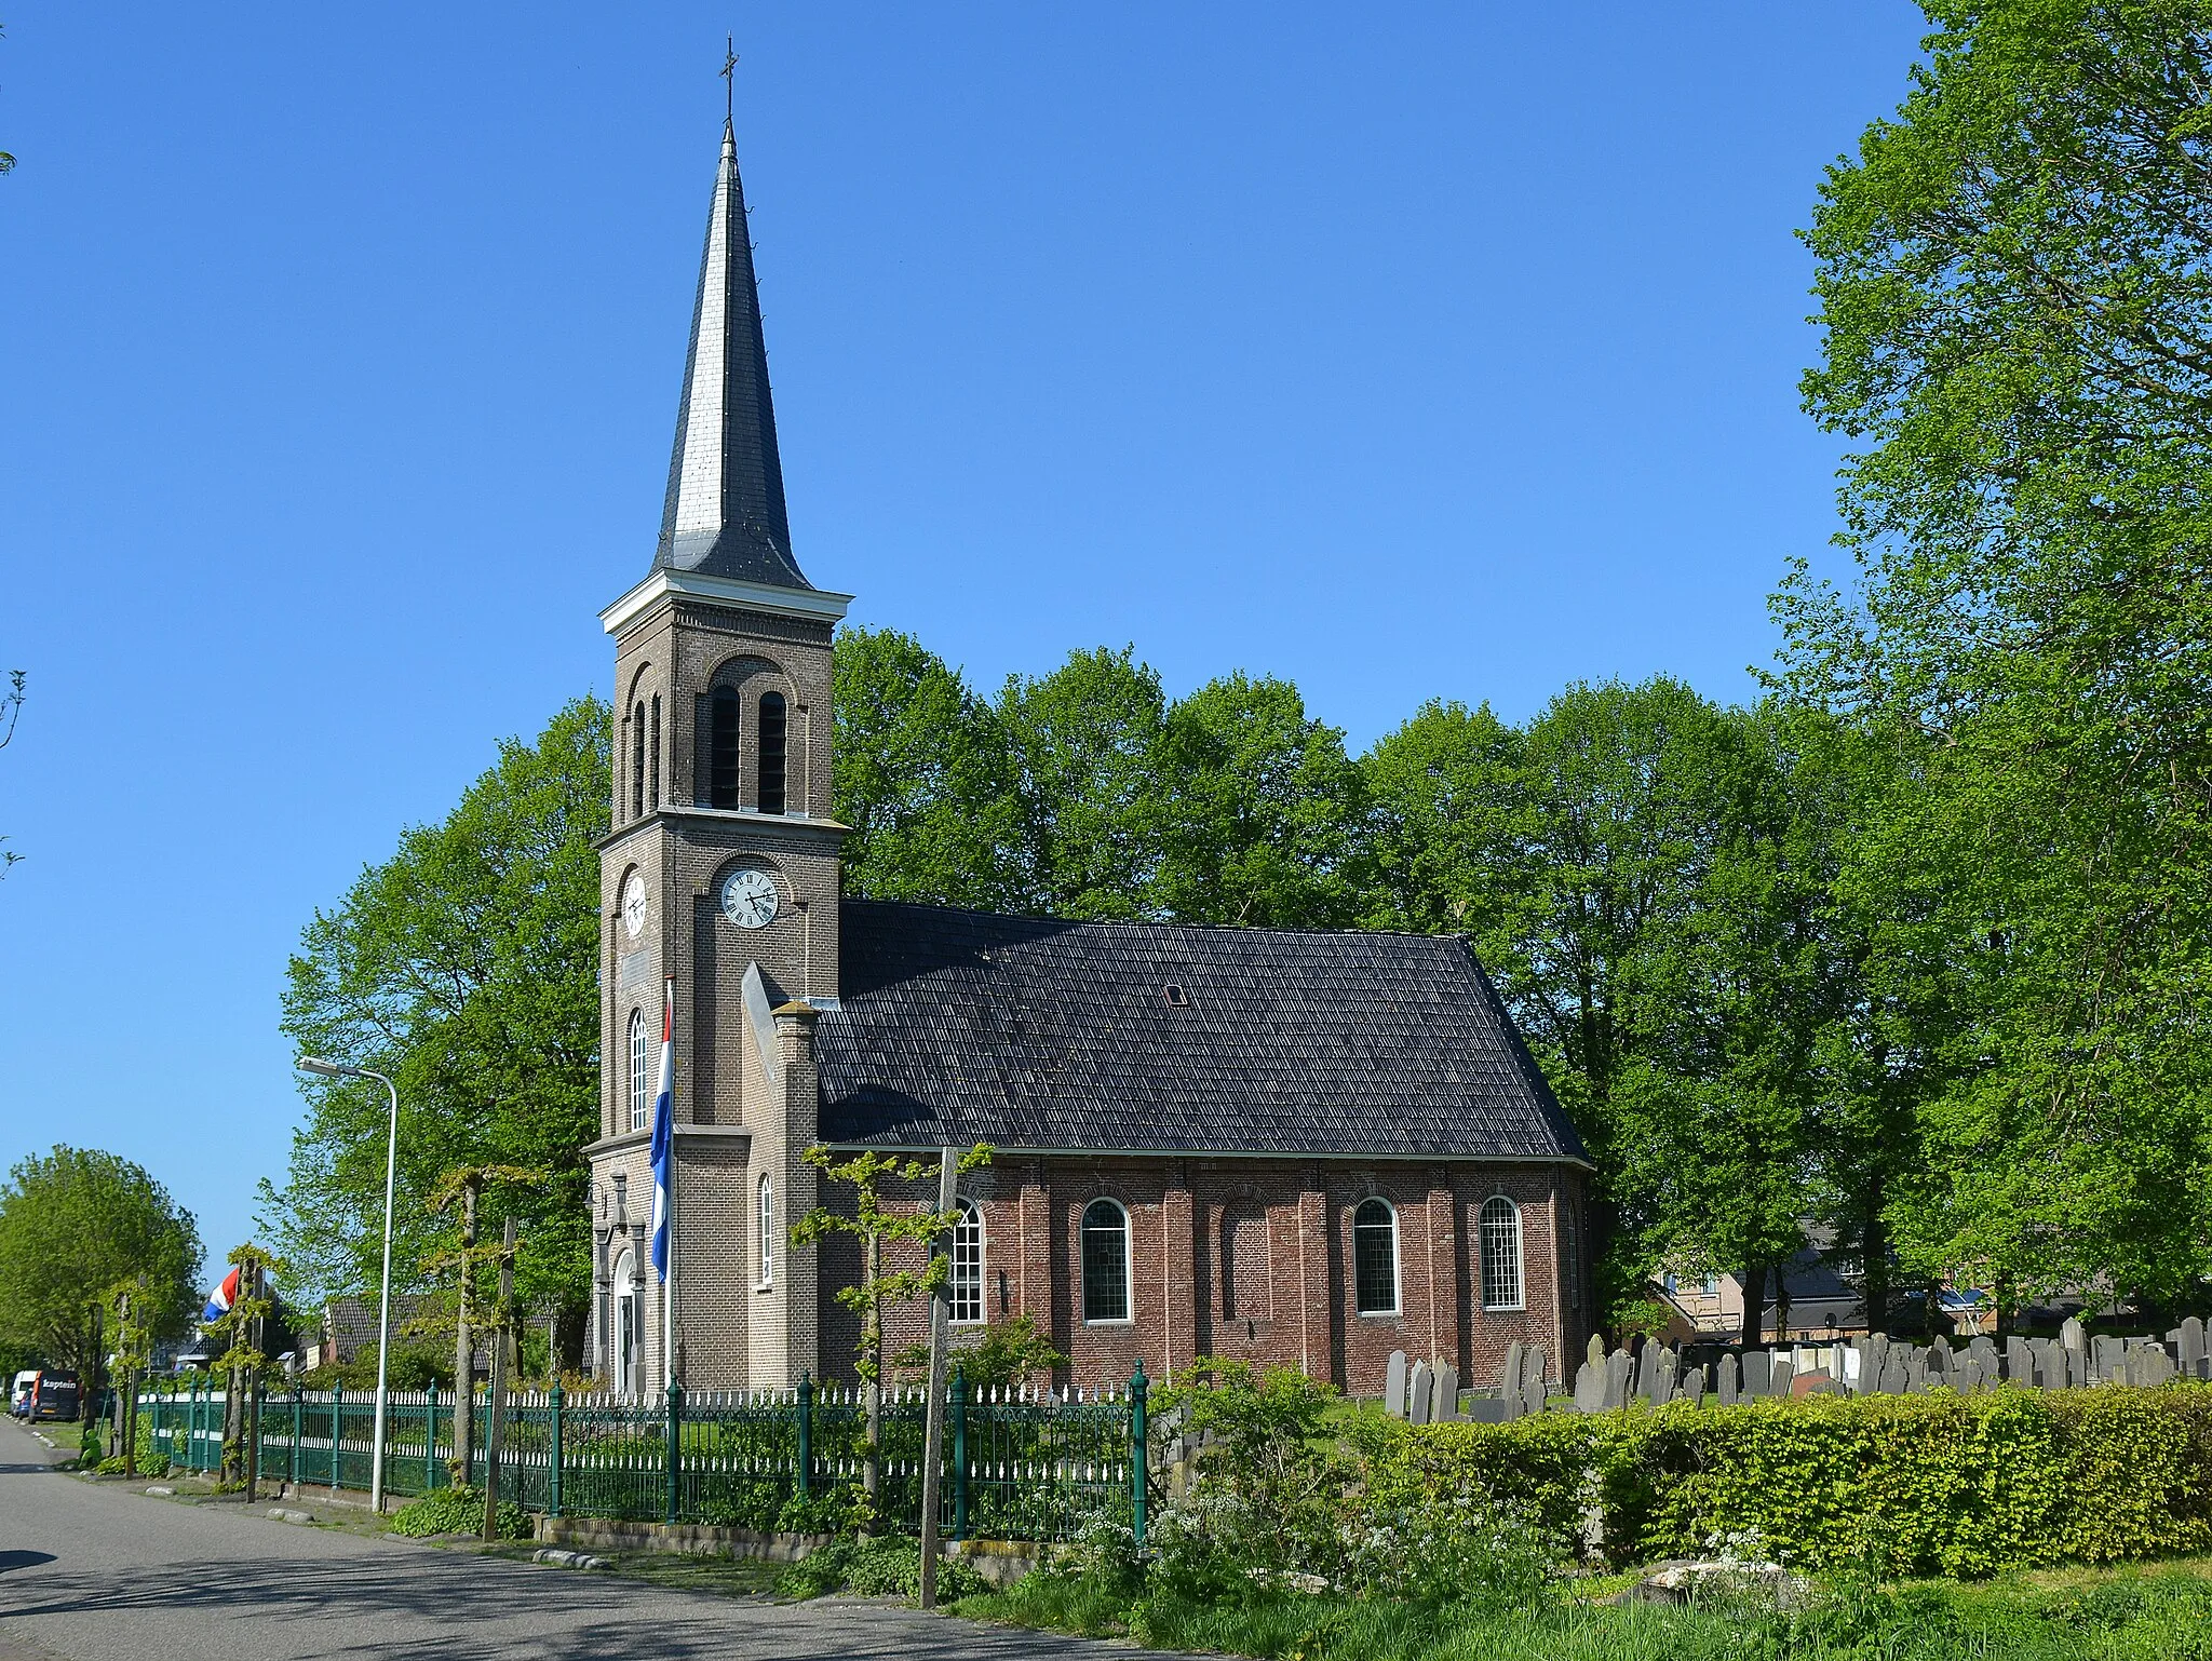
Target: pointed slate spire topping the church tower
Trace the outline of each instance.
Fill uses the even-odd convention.
[[[655,568],[812,588],[792,557],[737,133],[721,128]]]

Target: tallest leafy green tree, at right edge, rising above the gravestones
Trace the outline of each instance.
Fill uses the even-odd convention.
[[[1840,885],[1938,1082],[1902,1252],[2161,1303],[2212,1272],[2212,7],[1929,18],[1807,232],[1860,579],[1783,588],[1790,683],[1898,761]]]

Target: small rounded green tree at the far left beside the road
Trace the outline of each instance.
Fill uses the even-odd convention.
[[[181,1336],[199,1307],[199,1225],[146,1170],[58,1146],[0,1188],[0,1338],[93,1378],[95,1305],[119,1281],[144,1287],[137,1318]]]

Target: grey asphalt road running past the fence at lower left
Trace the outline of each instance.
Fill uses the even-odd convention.
[[[51,1471],[53,1458],[0,1422],[0,1661],[1135,1654],[880,1603],[684,1592],[283,1524],[268,1506],[192,1506],[84,1482]]]

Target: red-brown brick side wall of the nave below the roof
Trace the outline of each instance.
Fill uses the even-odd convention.
[[[1068,1358],[1053,1385],[1119,1385],[1139,1360],[1166,1380],[1194,1356],[1230,1356],[1305,1367],[1356,1396],[1383,1391],[1391,1349],[1440,1356],[1462,1385],[1493,1385],[1506,1345],[1537,1343],[1559,1378],[1562,1336],[1573,1358],[1588,1336],[1588,1312],[1566,1307],[1568,1285],[1586,1276],[1562,1283],[1555,1228],[1559,1197],[1579,1185],[1579,1172],[1551,1166],[1018,1152],[962,1179],[984,1214],[984,1316],[1035,1318]],[[933,1192],[933,1183],[918,1190]],[[1517,1309],[1482,1307],[1478,1216],[1491,1194],[1520,1205]],[[1128,1210],[1128,1323],[1082,1318],[1082,1214],[1099,1197]],[[1363,1316],[1354,1300],[1352,1216],[1369,1197],[1398,1214],[1396,1314]],[[852,1376],[858,1327],[832,1303],[832,1287],[849,1283],[856,1263],[843,1247],[821,1261],[823,1373],[832,1378]],[[927,1329],[920,1305],[889,1309],[887,1351]]]

